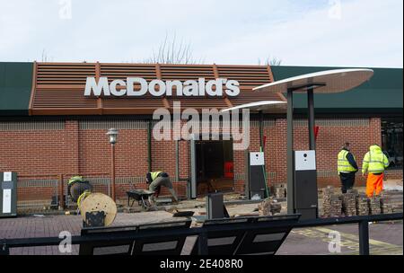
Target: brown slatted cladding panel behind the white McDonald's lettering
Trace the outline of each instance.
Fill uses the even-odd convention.
[[[269,66],[223,65],[167,65],[167,64],[114,64],[114,63],[36,63],[31,93],[31,115],[118,115],[152,114],[157,108],[172,109],[173,101],[180,101],[181,108],[218,108],[240,105],[253,101],[282,98],[277,94],[252,92],[252,88],[273,81]],[[127,77],[154,79],[197,80],[206,82],[215,78],[236,80],[241,93],[237,97],[84,97],[87,77],[108,77],[126,80]],[[138,87],[136,85],[136,87]]]

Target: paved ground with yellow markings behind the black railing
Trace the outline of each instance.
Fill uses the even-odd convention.
[[[282,213],[285,213],[285,202]],[[257,213],[259,203],[238,204],[230,203],[226,206],[229,214],[244,215]],[[206,208],[203,202],[189,201],[179,210],[193,210],[196,215],[203,215]],[[183,220],[183,217],[172,217],[170,212],[159,210],[138,213],[119,213],[112,225],[142,225],[149,223],[161,223],[167,221]],[[58,236],[62,231],[68,231],[72,235],[79,235],[83,222],[81,216],[55,215],[55,216],[18,216],[15,218],[0,218],[0,239],[2,238],[31,238]],[[341,252],[329,251],[329,233],[337,231],[341,237]],[[358,234],[357,225],[332,225],[294,229],[281,246],[278,255],[300,254],[357,254]],[[370,225],[371,254],[399,254],[403,251],[403,226],[400,222],[386,222]],[[183,254],[189,253],[195,240],[188,240]],[[12,249],[12,254],[40,254],[60,255],[77,254],[78,246],[73,246],[71,253],[60,253],[57,246],[31,247]]]

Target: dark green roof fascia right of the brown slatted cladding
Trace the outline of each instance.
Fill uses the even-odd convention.
[[[347,67],[271,66],[275,80],[323,70]],[[352,68],[352,67],[349,67]],[[402,115],[403,84],[401,68],[371,68],[373,77],[347,92],[314,94],[316,111],[329,113],[400,113]],[[307,107],[307,95],[294,94],[294,108],[302,112]]]

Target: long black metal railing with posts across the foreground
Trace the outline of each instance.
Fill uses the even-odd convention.
[[[374,215],[374,216],[352,216],[352,217],[338,217],[338,218],[322,218],[313,220],[303,220],[294,224],[287,223],[249,223],[249,224],[237,224],[237,225],[224,225],[217,226],[209,231],[245,231],[248,232],[254,229],[270,229],[270,228],[302,228],[311,226],[323,226],[323,225],[347,225],[358,224],[359,233],[359,254],[369,255],[369,222],[383,222],[392,220],[402,220],[403,214],[388,214],[388,215]],[[188,230],[159,230],[149,233],[123,233],[121,235],[114,234],[113,236],[106,236],[106,234],[100,236],[72,236],[72,244],[94,243],[94,242],[111,242],[114,240],[136,240],[147,238],[167,238],[175,235],[187,235],[198,236],[198,255],[207,255],[207,230],[202,227],[193,227]],[[10,249],[22,248],[22,247],[35,247],[35,246],[52,246],[59,245],[64,239],[58,237],[39,237],[39,238],[19,238],[19,239],[3,239],[0,240],[0,255],[9,255]]]

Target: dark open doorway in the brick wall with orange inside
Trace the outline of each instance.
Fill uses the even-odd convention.
[[[233,140],[196,141],[197,194],[233,191]]]

